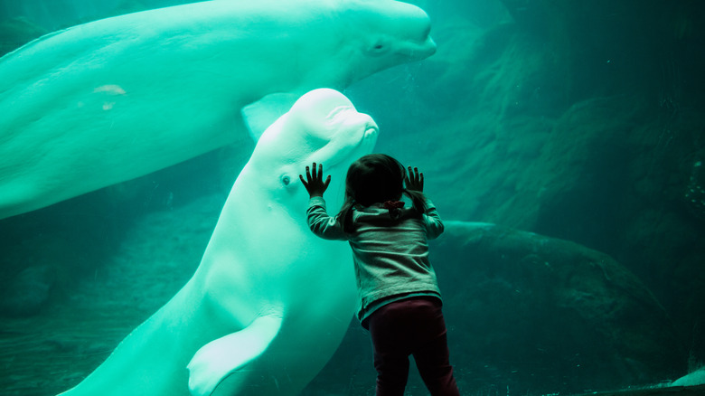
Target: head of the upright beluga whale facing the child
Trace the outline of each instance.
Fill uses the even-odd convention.
[[[324,173],[332,176],[325,198],[337,208],[348,167],[371,153],[378,134],[374,120],[357,112],[342,93],[312,90],[268,127],[242,174],[254,174],[258,185],[270,192],[272,204],[302,212],[308,195],[298,175],[314,162],[323,164]]]

